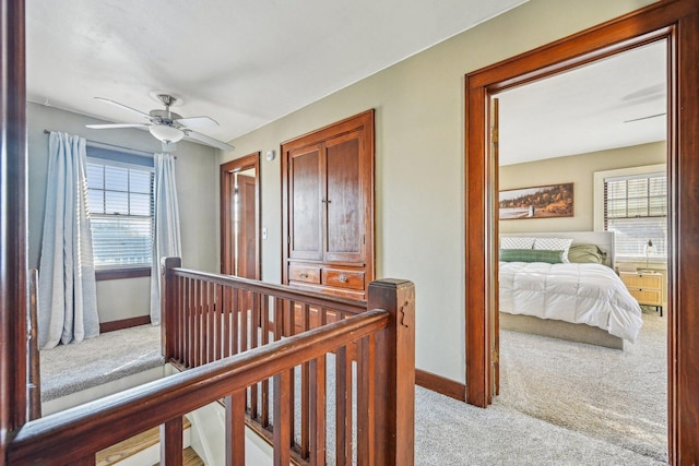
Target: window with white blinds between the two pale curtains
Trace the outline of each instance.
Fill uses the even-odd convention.
[[[125,271],[151,267],[153,160],[87,146],[87,205],[97,275],[106,270],[117,272],[111,278],[147,275]]]

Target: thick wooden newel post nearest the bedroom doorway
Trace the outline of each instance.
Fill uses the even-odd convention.
[[[414,464],[415,285],[382,279],[369,285],[367,309],[390,313],[376,335],[374,464]]]

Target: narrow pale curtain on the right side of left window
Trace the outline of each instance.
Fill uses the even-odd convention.
[[[161,323],[161,260],[181,258],[179,236],[179,210],[175,183],[175,157],[155,154],[155,178],[153,202],[155,225],[153,231],[153,270],[151,271],[151,322]]]

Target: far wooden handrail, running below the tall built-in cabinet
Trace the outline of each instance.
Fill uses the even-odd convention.
[[[357,299],[347,299],[317,291],[307,291],[301,289],[292,289],[288,286],[273,285],[249,278],[240,278],[233,275],[216,275],[208,272],[192,271],[189,268],[174,267],[170,270],[174,275],[185,278],[205,279],[217,285],[236,286],[246,291],[253,291],[265,295],[273,295],[276,298],[299,300],[311,306],[328,307],[332,304],[333,309],[342,312],[358,314],[366,311],[367,301]]]

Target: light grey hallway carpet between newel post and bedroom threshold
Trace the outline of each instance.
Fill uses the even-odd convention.
[[[416,465],[664,464],[498,403],[482,409],[422,387],[415,395]]]

